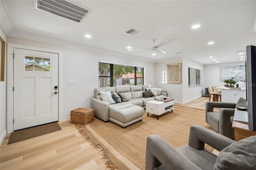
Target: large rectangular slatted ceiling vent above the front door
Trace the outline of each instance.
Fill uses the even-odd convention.
[[[90,12],[89,9],[82,8],[66,0],[36,0],[36,9],[50,12],[79,23]]]

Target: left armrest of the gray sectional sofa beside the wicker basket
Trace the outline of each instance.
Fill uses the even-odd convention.
[[[92,98],[92,108],[96,117],[108,121],[109,120],[109,106],[108,102],[103,102],[96,98]]]

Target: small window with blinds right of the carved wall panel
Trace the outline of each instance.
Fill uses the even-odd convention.
[[[188,87],[202,86],[202,70],[188,68]]]

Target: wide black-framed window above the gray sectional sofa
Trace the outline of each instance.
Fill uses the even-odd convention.
[[[144,68],[99,62],[99,87],[144,85]]]

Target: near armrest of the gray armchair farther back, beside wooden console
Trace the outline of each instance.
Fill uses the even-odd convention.
[[[230,117],[234,116],[235,109],[221,108],[220,109],[220,122],[219,133],[230,138]]]

